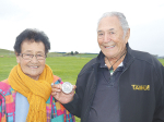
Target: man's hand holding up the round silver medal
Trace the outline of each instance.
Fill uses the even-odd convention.
[[[68,103],[73,100],[75,85],[72,85],[73,89],[70,94],[65,94],[61,89],[61,84],[55,84],[51,87],[51,95],[61,103]]]

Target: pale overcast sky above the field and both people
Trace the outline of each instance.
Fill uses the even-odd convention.
[[[164,0],[0,0],[0,48],[13,50],[21,32],[37,28],[50,52],[98,53],[97,22],[110,11],[125,14],[132,49],[164,56]]]

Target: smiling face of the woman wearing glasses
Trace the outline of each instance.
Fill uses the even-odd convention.
[[[21,53],[45,56],[45,46],[42,41],[32,42],[24,40],[21,45]],[[46,61],[46,59],[37,60],[36,57],[28,60],[24,59],[22,56],[16,56],[16,60],[17,63],[20,63],[23,73],[33,80],[38,80],[39,75],[44,71]]]

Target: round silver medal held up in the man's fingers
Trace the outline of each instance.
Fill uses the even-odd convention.
[[[65,83],[62,84],[62,91],[63,91],[65,94],[70,94],[70,93],[72,91],[72,84],[69,83],[69,82],[65,82]]]

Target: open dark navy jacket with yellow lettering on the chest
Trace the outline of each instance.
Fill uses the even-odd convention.
[[[96,91],[98,57],[81,70],[73,101],[63,105],[81,122],[87,122]],[[131,50],[128,45],[126,57],[126,70],[119,77],[120,122],[164,122],[163,65],[153,56]]]

